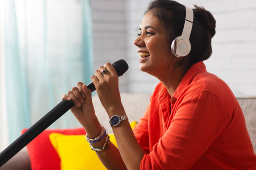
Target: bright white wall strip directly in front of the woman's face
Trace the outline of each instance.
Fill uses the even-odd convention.
[[[137,38],[140,22],[149,0],[126,0],[127,60],[129,64],[128,92],[152,93],[159,80],[139,70],[139,56],[133,41]]]

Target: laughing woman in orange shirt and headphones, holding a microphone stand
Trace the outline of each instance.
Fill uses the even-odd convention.
[[[236,97],[228,85],[206,71],[202,62],[212,52],[215,19],[204,8],[195,6],[192,16],[186,9],[172,0],[155,0],[145,12],[134,44],[141,57],[140,70],[157,77],[160,83],[133,131],[112,65],[106,63],[91,76],[109,117],[122,116],[121,121],[118,117],[110,121],[119,149],[101,127],[86,85],[79,82],[68,95],[62,95],[62,99],[75,103],[71,111],[108,169],[256,169],[256,155]],[[191,50],[179,57],[178,48],[189,49],[189,44],[180,45],[175,39],[183,29],[184,34],[190,34]]]

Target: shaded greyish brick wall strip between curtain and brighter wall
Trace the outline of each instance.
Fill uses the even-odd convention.
[[[91,0],[94,70],[106,62],[126,60],[125,0]],[[129,65],[129,63],[128,63]],[[127,74],[119,78],[121,92],[127,91]]]

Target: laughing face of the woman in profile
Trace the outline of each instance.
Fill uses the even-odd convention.
[[[134,40],[139,55],[140,70],[161,78],[166,74],[171,50],[167,43],[163,27],[152,11],[143,17],[139,36]]]

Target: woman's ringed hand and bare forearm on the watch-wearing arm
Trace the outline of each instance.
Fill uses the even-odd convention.
[[[106,69],[108,73],[103,76],[102,71]],[[109,117],[113,115],[125,115],[118,88],[118,75],[115,68],[110,63],[106,63],[105,67],[101,66],[99,70],[96,70],[94,73],[95,76],[91,76],[91,80],[95,85],[101,104],[107,111]],[[119,147],[119,153],[127,169],[138,170],[145,152],[138,144],[129,122],[127,120],[121,121],[118,127],[113,127],[113,132]],[[114,152],[113,148],[110,149],[111,154],[109,154],[108,157],[118,155],[117,152]],[[112,154],[112,152],[115,154]],[[116,163],[116,161],[114,161],[114,163]]]

